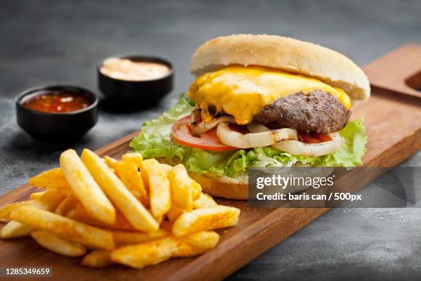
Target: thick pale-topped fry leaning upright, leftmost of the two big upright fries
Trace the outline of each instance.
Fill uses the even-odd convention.
[[[112,224],[116,220],[116,210],[74,149],[67,149],[61,154],[60,166],[74,194],[89,214],[98,220]]]

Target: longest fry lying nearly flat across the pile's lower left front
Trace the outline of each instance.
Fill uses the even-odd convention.
[[[12,211],[10,218],[33,229],[51,231],[61,238],[79,242],[87,247],[114,249],[114,238],[111,232],[70,220],[50,211],[23,206]]]

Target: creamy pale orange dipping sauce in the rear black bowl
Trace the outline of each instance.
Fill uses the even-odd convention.
[[[146,81],[159,79],[170,71],[168,65],[149,61],[109,58],[100,67],[100,72],[114,79],[126,81]]]

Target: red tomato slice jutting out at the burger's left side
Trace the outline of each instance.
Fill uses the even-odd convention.
[[[217,136],[216,128],[201,134],[200,137],[194,136],[193,132],[191,132],[190,116],[183,117],[174,123],[173,127],[171,127],[171,136],[173,141],[187,147],[213,150],[215,152],[239,149],[221,143]]]

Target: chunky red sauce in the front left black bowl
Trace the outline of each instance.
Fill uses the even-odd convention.
[[[22,105],[38,112],[61,113],[82,110],[91,103],[89,98],[80,94],[54,91],[37,94]]]

